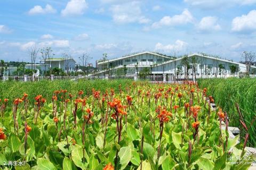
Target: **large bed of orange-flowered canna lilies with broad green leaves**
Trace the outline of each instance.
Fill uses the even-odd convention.
[[[213,97],[193,82],[57,90],[35,103],[25,96],[1,105],[2,169],[13,168],[7,160],[26,160],[26,169],[96,170],[248,169],[252,162],[251,136],[230,139],[228,113],[212,110]],[[254,125],[240,119],[245,129]]]

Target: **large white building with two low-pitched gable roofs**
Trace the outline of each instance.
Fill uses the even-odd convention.
[[[136,53],[116,59],[97,61],[96,66],[99,71],[94,75],[111,75],[111,72],[125,67],[126,75],[139,74],[143,68],[148,68],[150,75],[182,77],[185,75],[185,66],[182,65],[183,58],[174,58],[155,52]],[[246,72],[246,65],[239,62],[198,53],[188,55],[189,61],[191,61],[191,58],[196,59],[195,72],[197,77],[229,77],[243,75]],[[190,62],[190,64],[192,63]],[[231,74],[231,66],[237,68],[233,74]],[[191,68],[188,69],[188,74],[189,76],[195,76]],[[256,74],[255,66],[251,67],[250,74]]]

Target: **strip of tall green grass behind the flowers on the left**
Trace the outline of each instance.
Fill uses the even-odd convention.
[[[46,100],[50,101],[52,93],[55,90],[68,90],[68,92],[75,94],[79,90],[90,94],[92,88],[105,92],[107,89],[113,88],[115,92],[119,91],[119,84],[124,88],[124,85],[132,84],[132,80],[40,80],[38,82],[15,82],[7,81],[0,82],[0,99],[8,98],[13,100],[22,97],[23,93],[28,94],[28,99],[34,101],[36,95],[43,95]],[[122,89],[124,90],[124,89]]]

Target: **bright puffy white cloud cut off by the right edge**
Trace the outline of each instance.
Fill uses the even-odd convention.
[[[236,17],[232,21],[232,31],[252,32],[256,30],[256,10],[250,11],[247,15]]]

